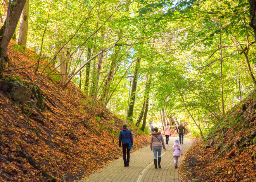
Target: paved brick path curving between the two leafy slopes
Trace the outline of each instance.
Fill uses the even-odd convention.
[[[162,149],[162,168],[154,168],[154,155],[147,146],[131,153],[130,166],[124,167],[123,158],[119,158],[80,182],[180,182],[179,165],[183,157],[179,157],[178,168],[175,169],[171,151],[175,139],[178,137],[169,137],[166,151]],[[183,152],[191,145],[192,141],[184,138]]]

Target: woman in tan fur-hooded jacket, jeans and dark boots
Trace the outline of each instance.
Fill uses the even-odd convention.
[[[158,152],[158,167],[161,168],[161,152],[162,152],[162,146],[165,149],[164,146],[164,138],[161,134],[161,131],[158,131],[158,128],[154,128],[154,132],[151,133],[150,138],[150,149],[154,153],[154,165],[155,169],[157,169],[157,152]]]

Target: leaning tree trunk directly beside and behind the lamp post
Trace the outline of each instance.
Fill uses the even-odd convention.
[[[132,87],[131,87],[131,100],[130,100],[129,109],[128,109],[128,119],[131,122],[133,122],[132,116],[133,116],[133,108],[134,108],[134,104],[135,104],[139,68],[140,68],[140,59],[137,60],[137,63],[135,66],[134,78],[133,78]]]

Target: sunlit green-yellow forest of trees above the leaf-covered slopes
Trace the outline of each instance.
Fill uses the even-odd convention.
[[[187,122],[204,138],[256,87],[255,7],[254,0],[3,0],[0,71],[12,37],[17,50],[38,53],[35,84],[44,59],[43,74],[75,83],[90,106],[99,100],[124,119],[128,112],[142,131],[150,120]]]

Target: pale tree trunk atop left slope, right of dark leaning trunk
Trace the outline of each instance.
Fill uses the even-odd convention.
[[[18,45],[24,46],[26,49],[28,37],[28,20],[29,20],[29,0],[26,0],[24,9],[21,14],[21,23],[19,27],[19,40]]]

